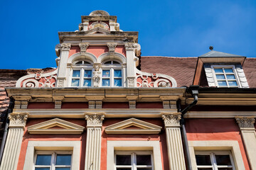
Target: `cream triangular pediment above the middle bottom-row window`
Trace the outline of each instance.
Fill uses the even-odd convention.
[[[136,126],[137,129],[129,129]],[[114,123],[105,128],[107,134],[159,134],[161,127],[142,120],[130,118],[119,123]]]

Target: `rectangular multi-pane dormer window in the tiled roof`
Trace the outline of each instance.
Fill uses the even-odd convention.
[[[213,66],[215,81],[218,87],[238,87],[238,79],[234,67]]]

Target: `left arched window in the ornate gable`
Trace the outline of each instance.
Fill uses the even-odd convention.
[[[92,64],[87,60],[73,62],[71,86],[90,87],[92,86]]]

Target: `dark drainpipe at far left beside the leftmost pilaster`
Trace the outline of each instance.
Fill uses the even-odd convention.
[[[9,127],[9,118],[8,118],[8,116],[12,112],[13,108],[14,108],[14,98],[10,98],[9,108],[8,108],[7,115],[6,115],[6,124],[4,126],[3,140],[1,142],[1,147],[0,147],[0,162],[1,162],[1,159],[2,159],[3,154],[4,154],[4,146],[6,144],[6,137],[7,137],[7,134],[8,134],[8,127]]]

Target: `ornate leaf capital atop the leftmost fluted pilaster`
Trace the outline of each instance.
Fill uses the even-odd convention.
[[[8,118],[10,120],[9,128],[24,128],[28,113],[11,113]]]

